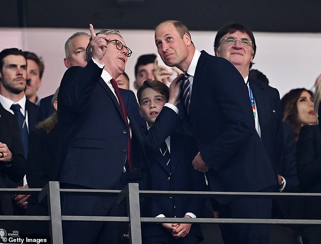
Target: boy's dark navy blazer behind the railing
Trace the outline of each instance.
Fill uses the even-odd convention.
[[[204,173],[194,170],[192,160],[197,154],[197,146],[194,139],[182,134],[171,134],[171,161],[166,165],[159,149],[147,151],[149,174],[151,178],[151,190],[183,190],[204,191],[206,189]],[[200,198],[183,197],[153,197],[146,200],[143,215],[156,217],[164,214],[169,218],[183,218],[187,212],[196,217],[202,217],[204,201]],[[162,236],[168,234],[162,225],[144,224],[142,226],[143,237]],[[195,235],[199,241],[203,240],[202,232],[198,224],[193,224],[189,235]]]

